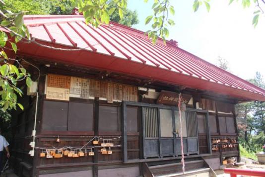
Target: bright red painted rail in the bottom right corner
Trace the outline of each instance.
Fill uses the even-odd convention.
[[[253,170],[253,169],[231,169],[225,168],[224,173],[230,174],[230,177],[236,177],[237,175],[247,175],[252,177],[265,177],[265,171]]]

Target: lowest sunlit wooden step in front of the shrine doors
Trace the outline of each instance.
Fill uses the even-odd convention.
[[[184,174],[182,172],[158,175],[155,177],[210,177],[210,168],[201,168],[196,170],[186,171]]]

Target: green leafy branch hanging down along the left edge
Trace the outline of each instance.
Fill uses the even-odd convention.
[[[0,31],[0,106],[3,110],[14,108],[18,105],[21,109],[23,106],[17,103],[17,94],[22,96],[23,92],[17,87],[17,82],[26,80],[27,86],[31,85],[30,74],[26,72],[23,66],[16,60],[11,59],[5,53],[10,49],[17,52],[16,43],[22,37],[30,40],[29,32],[23,23],[23,13],[12,13],[4,9],[4,3],[0,1],[0,26],[11,31],[11,39],[8,39],[4,31]]]

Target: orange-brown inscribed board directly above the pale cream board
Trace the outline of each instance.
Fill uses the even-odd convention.
[[[70,89],[71,77],[48,74],[47,87]]]

